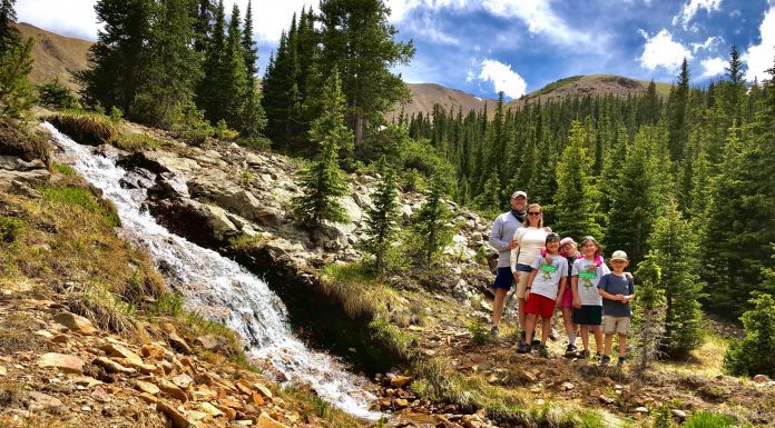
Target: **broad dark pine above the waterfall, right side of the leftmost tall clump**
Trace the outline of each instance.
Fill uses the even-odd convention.
[[[200,74],[200,56],[194,50],[190,0],[161,0],[154,11],[144,79],[129,118],[169,129],[194,104]]]

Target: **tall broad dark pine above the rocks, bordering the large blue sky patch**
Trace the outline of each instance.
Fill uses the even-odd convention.
[[[390,70],[409,63],[414,46],[393,40],[398,31],[387,22],[390,9],[382,0],[323,0],[320,10],[317,70],[323,78],[334,67],[342,73],[346,120],[355,135],[357,153],[366,130],[379,125],[396,101],[409,98],[401,76]]]

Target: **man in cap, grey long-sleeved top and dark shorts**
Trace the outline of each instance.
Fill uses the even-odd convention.
[[[528,193],[517,190],[511,195],[509,205],[511,210],[498,216],[490,231],[490,245],[498,250],[498,272],[496,273],[496,283],[492,286],[496,291],[496,301],[492,308],[492,329],[490,330],[492,336],[498,335],[500,318],[503,313],[503,301],[514,282],[514,278],[511,275],[511,249],[518,245],[513,240],[513,236],[524,221]]]

